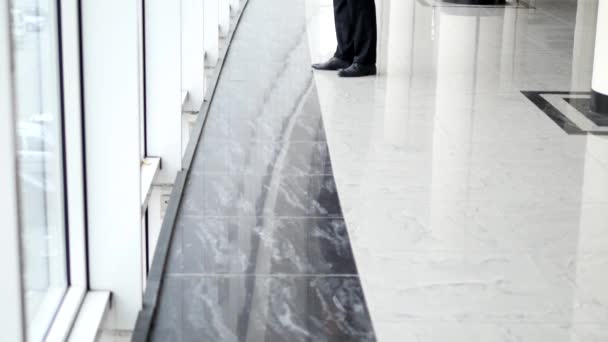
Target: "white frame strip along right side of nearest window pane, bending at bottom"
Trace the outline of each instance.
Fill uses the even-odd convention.
[[[59,4],[69,288],[47,341],[68,338],[88,291],[79,2],[62,0]]]

